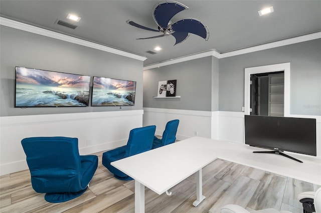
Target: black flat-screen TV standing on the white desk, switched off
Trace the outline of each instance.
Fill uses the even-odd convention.
[[[245,144],[272,151],[255,153],[281,154],[283,151],[316,156],[316,119],[245,115]]]

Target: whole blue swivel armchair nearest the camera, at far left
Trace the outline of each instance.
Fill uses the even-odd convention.
[[[22,141],[35,191],[48,202],[80,196],[94,175],[98,157],[79,155],[78,138],[28,137]]]

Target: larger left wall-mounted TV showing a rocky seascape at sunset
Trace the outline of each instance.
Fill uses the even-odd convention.
[[[16,66],[15,107],[88,106],[90,76]]]

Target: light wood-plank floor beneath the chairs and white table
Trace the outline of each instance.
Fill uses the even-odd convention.
[[[101,164],[81,196],[63,203],[45,201],[44,193],[33,190],[29,170],[0,177],[0,212],[134,212],[134,180],[122,181]],[[179,168],[178,168],[179,169]],[[276,208],[301,213],[298,193],[315,191],[319,186],[260,169],[217,159],[203,169],[203,194],[198,206],[194,175],[169,191],[158,195],[145,188],[145,212],[211,212],[219,213],[228,203],[248,210]]]

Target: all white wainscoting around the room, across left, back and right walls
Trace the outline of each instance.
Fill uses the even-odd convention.
[[[143,114],[143,115],[142,115]],[[316,154],[321,157],[321,116],[316,118]],[[28,169],[21,140],[31,136],[78,137],[80,154],[126,144],[132,128],[156,125],[162,135],[169,120],[179,119],[177,139],[201,137],[244,143],[244,112],[164,108],[0,117],[0,175]]]

